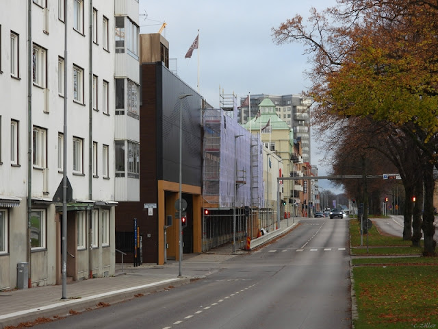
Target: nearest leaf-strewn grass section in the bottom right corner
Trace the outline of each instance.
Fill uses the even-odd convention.
[[[354,267],[353,276],[355,329],[438,328],[438,265]]]

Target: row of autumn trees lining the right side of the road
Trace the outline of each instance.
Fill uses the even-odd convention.
[[[338,0],[324,12],[312,9],[306,23],[296,15],[272,33],[277,44],[306,46],[313,124],[330,132],[326,149],[346,155],[334,169],[366,175],[380,163],[383,172],[400,173],[404,239],[417,245],[422,230],[424,254],[435,254],[438,1]],[[368,188],[376,183],[364,181],[356,191],[343,183],[368,208]]]

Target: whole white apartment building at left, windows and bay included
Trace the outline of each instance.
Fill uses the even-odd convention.
[[[19,286],[23,263],[25,287],[61,283],[64,171],[67,276],[114,274],[115,207],[139,198],[127,192],[139,186],[138,32],[138,0],[3,3],[0,290]]]

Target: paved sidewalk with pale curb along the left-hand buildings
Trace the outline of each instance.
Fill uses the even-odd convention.
[[[277,236],[292,230],[299,219],[282,219],[280,228],[251,241],[251,249],[263,245]],[[287,225],[289,224],[289,226]],[[220,270],[221,263],[238,254],[231,243],[202,254],[184,254],[179,277],[179,262],[170,260],[165,265],[146,264],[139,267],[116,265],[116,276],[94,278],[67,284],[66,299],[62,300],[62,285],[44,286],[13,291],[0,291],[0,329],[18,326],[38,318],[63,317],[133,299],[154,291],[172,289],[191,280],[205,278]]]

